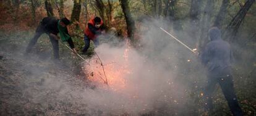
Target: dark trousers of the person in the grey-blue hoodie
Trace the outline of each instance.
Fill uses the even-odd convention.
[[[205,108],[207,110],[213,109],[212,95],[213,91],[215,90],[215,85],[219,83],[224,97],[228,101],[228,106],[232,114],[235,116],[242,115],[242,109],[239,107],[237,102],[236,93],[234,91],[233,77],[231,75],[223,78],[208,78],[207,83],[208,85],[205,88]]]

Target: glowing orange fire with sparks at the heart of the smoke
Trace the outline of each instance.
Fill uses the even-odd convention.
[[[113,91],[125,89],[127,86],[126,77],[132,73],[129,68],[129,41],[126,41],[125,48],[123,54],[111,58],[106,58],[101,52],[98,52],[102,64],[97,56],[93,56],[89,61],[90,65],[85,67],[89,76],[88,79],[102,88],[112,89]]]

